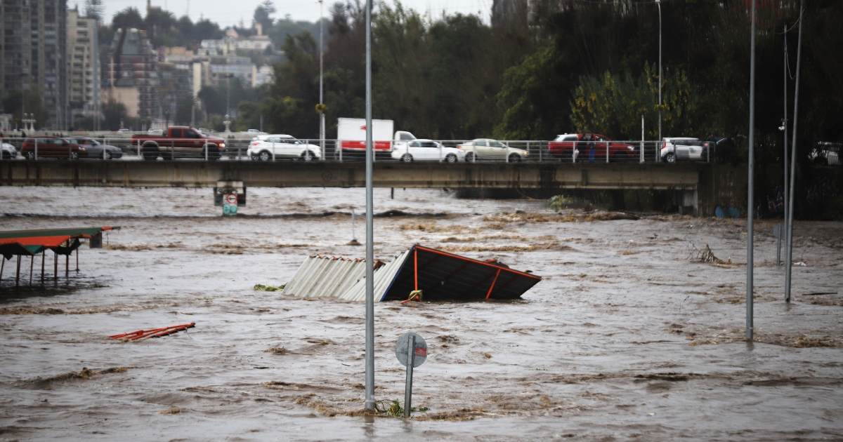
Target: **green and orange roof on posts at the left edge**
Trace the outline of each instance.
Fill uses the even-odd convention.
[[[6,259],[10,259],[14,255],[35,255],[47,248],[56,251],[56,253],[67,254],[69,253],[68,248],[72,251],[72,249],[78,247],[78,242],[74,242],[75,245],[72,244],[62,248],[62,243],[67,242],[67,240],[89,238],[99,232],[119,228],[119,226],[104,226],[0,232],[0,254]]]

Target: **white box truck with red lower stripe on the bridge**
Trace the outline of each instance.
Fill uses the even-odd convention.
[[[392,120],[372,120],[372,141],[375,157],[389,157],[395,145],[415,140],[416,136],[405,130],[393,132]],[[366,155],[366,119],[340,118],[336,125],[336,157],[361,157]]]

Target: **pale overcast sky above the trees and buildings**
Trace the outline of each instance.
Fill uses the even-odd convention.
[[[217,22],[223,29],[226,26],[239,24],[240,20],[246,26],[252,23],[252,14],[255,13],[255,8],[263,0],[152,0],[153,6],[160,6],[167,9],[175,16],[181,17],[187,13],[191,19],[196,20],[201,17],[211,19]],[[393,0],[385,0],[392,4]],[[474,13],[480,14],[481,18],[488,23],[489,13],[491,11],[492,0],[404,0],[407,8],[416,9],[420,13],[430,13],[432,17],[436,18],[442,13]],[[135,7],[141,11],[142,15],[146,15],[147,0],[104,0],[105,3],[105,22],[110,23],[111,17],[118,11],[127,7]],[[274,0],[275,7],[278,12],[275,13],[276,19],[281,19],[289,14],[294,20],[319,20],[319,2],[315,0]],[[330,4],[334,0],[325,0],[325,15],[327,16]],[[84,0],[68,0],[68,8],[73,8],[76,4],[79,10],[84,9]],[[188,11],[190,11],[188,13]]]

